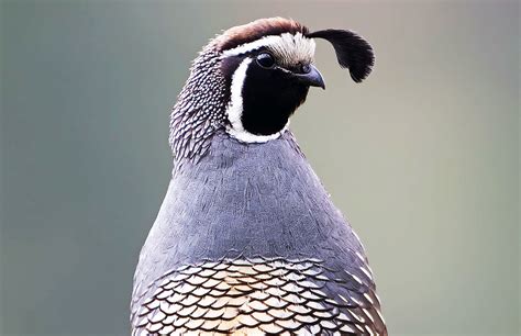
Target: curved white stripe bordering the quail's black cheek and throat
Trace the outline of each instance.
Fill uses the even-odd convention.
[[[244,79],[246,78],[246,70],[251,63],[252,63],[251,58],[245,58],[239,65],[235,72],[233,72],[232,87],[230,89],[231,98],[230,98],[230,103],[228,104],[228,108],[226,108],[228,120],[230,121],[232,126],[228,127],[226,132],[231,136],[244,143],[266,143],[270,139],[275,139],[279,137],[284,132],[286,132],[289,125],[289,121],[280,132],[277,132],[270,135],[255,135],[244,130],[243,123],[241,121],[241,116],[243,114],[242,91],[243,91],[243,86],[244,86]]]

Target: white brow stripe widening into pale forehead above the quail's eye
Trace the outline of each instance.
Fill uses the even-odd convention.
[[[295,35],[284,33],[281,35],[265,36],[251,43],[242,44],[233,49],[224,51],[223,56],[236,56],[256,51],[260,47],[267,47],[279,59],[302,60],[311,63],[314,56],[314,41],[303,36],[301,33]]]

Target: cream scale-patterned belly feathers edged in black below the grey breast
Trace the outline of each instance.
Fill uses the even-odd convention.
[[[134,334],[376,335],[384,321],[364,262],[358,262],[362,279],[314,258],[185,265],[163,276],[152,294],[145,292]],[[345,293],[329,287],[344,287]]]

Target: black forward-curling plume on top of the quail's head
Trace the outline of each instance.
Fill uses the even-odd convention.
[[[324,38],[330,42],[336,53],[336,59],[343,68],[348,68],[351,78],[361,82],[375,64],[373,48],[367,41],[351,31],[323,30],[306,35],[307,37]]]

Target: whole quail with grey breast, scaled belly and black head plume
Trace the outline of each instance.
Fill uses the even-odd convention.
[[[132,335],[387,335],[364,247],[289,130],[309,89],[325,89],[317,38],[355,82],[372,71],[359,34],[285,18],[225,30],[193,60]]]

